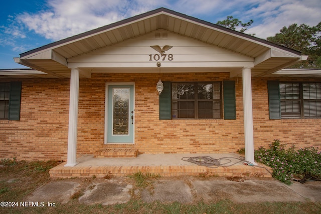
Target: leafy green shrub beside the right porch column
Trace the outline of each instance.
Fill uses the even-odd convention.
[[[255,160],[271,167],[272,176],[286,184],[291,184],[294,177],[302,179],[307,175],[321,179],[321,153],[317,148],[285,147],[274,140],[268,149],[261,146],[254,151]]]

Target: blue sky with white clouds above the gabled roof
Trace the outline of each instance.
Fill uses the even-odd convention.
[[[210,23],[227,16],[266,39],[294,23],[321,22],[320,0],[11,0],[0,9],[0,69],[27,68],[14,57],[35,48],[158,8]]]

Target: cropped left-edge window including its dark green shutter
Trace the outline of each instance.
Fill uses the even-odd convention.
[[[21,82],[0,83],[0,120],[20,120]]]

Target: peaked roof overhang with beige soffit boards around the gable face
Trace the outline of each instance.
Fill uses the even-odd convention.
[[[252,57],[254,76],[269,75],[302,60],[292,49],[161,8],[28,51],[15,61],[55,77],[69,77],[69,58],[159,29]],[[235,72],[237,75],[240,73]]]

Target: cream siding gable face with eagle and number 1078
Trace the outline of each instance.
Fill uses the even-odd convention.
[[[165,47],[164,53],[159,52],[155,47]],[[108,71],[105,68],[110,68],[111,71],[115,71],[115,68],[123,68],[123,72],[128,72],[129,68],[148,68],[149,72],[159,72],[156,63],[161,63],[159,67],[162,68],[162,72],[166,68],[189,67],[193,67],[194,70],[195,68],[218,68],[222,71],[222,68],[228,67],[234,70],[240,70],[245,65],[253,67],[254,58],[159,30],[68,59],[70,67],[83,68],[91,72]],[[119,69],[118,72],[120,72]]]

